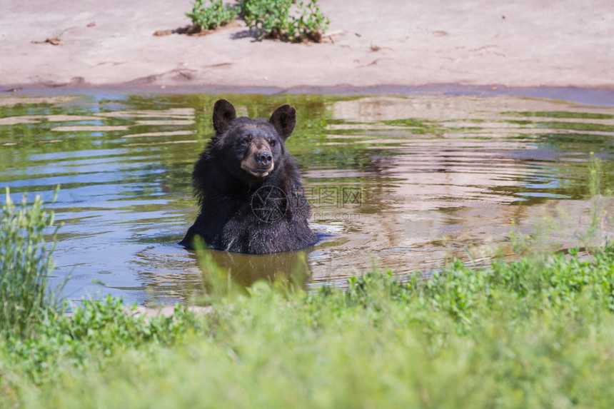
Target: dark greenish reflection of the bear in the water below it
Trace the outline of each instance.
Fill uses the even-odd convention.
[[[228,253],[209,250],[213,262],[223,268],[233,283],[241,287],[251,286],[258,280],[271,283],[288,283],[306,288],[311,271],[307,262],[308,249],[283,251],[271,254]],[[206,278],[206,274],[203,274]]]

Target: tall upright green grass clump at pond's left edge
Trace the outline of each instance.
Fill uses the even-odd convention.
[[[57,228],[48,245],[45,232],[54,226],[54,213],[42,206],[38,195],[31,207],[25,195],[16,206],[6,188],[0,220],[0,333],[5,336],[35,330],[57,301],[47,290]]]

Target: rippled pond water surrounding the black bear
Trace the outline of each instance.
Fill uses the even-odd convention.
[[[273,256],[214,252],[241,283],[301,266],[318,286],[373,265],[403,275],[452,256],[487,260],[509,253],[513,226],[531,231],[545,215],[558,223],[548,244],[564,249],[595,207],[591,157],[603,190],[614,185],[613,106],[462,94],[0,96],[0,187],[49,201],[61,184],[49,207],[64,223],[54,276],[71,277],[67,298],[147,305],[202,288],[196,257],[176,243],[196,217],[190,173],[220,97],[252,117],[296,106],[287,147],[322,237]],[[611,238],[601,202],[598,235]]]

